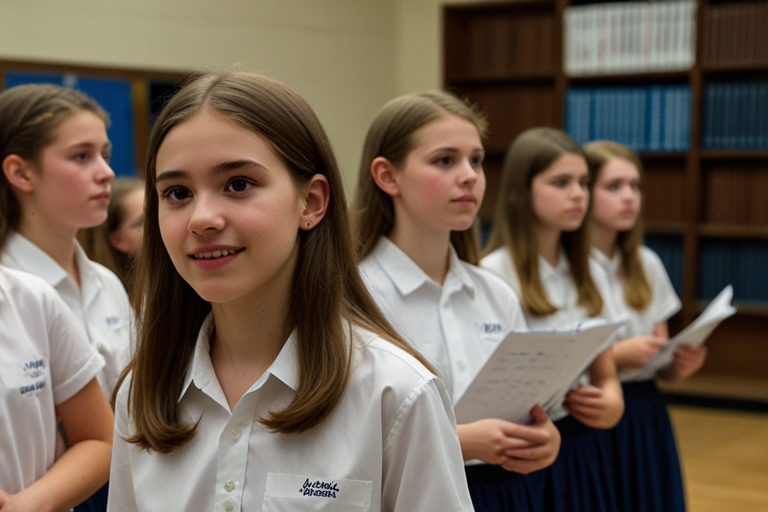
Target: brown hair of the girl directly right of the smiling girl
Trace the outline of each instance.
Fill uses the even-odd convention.
[[[395,98],[384,105],[374,118],[365,137],[357,192],[352,203],[358,258],[362,259],[370,253],[379,237],[388,235],[395,226],[394,203],[389,194],[376,185],[371,175],[371,163],[381,156],[395,167],[402,168],[408,153],[415,146],[416,131],[444,115],[466,119],[475,125],[481,138],[485,137],[487,124],[484,116],[456,96],[440,91]],[[464,231],[451,231],[451,244],[460,259],[477,265],[480,251],[474,224]]]

